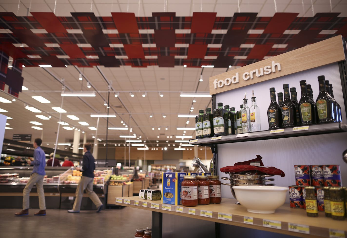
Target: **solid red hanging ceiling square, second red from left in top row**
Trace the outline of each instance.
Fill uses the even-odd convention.
[[[138,33],[137,21],[133,12],[111,12],[118,33]]]

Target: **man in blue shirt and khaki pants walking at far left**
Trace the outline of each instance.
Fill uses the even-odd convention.
[[[16,216],[27,216],[29,214],[29,195],[34,184],[36,184],[40,204],[40,211],[35,213],[34,215],[46,215],[46,203],[43,192],[43,177],[46,174],[44,171],[44,167],[46,166],[46,156],[43,149],[41,149],[40,147],[41,143],[42,140],[40,138],[36,138],[34,140],[34,161],[32,161],[31,163],[29,162],[29,165],[34,165],[34,168],[32,174],[30,175],[29,181],[23,190],[23,210],[15,213]]]

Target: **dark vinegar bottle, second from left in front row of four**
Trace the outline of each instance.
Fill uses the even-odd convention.
[[[289,84],[283,84],[284,99],[281,106],[283,127],[296,126],[296,107],[289,97]]]

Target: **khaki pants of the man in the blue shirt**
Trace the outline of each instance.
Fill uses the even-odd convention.
[[[30,175],[29,181],[23,189],[23,210],[29,209],[29,196],[34,184],[36,184],[37,194],[39,194],[40,210],[46,210],[46,202],[44,200],[43,192],[43,177],[44,175],[38,173]]]

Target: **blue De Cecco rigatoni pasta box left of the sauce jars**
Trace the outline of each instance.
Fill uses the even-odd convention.
[[[161,202],[172,205],[182,204],[181,190],[182,181],[187,173],[170,173],[164,172],[161,175],[162,178],[162,196]]]

